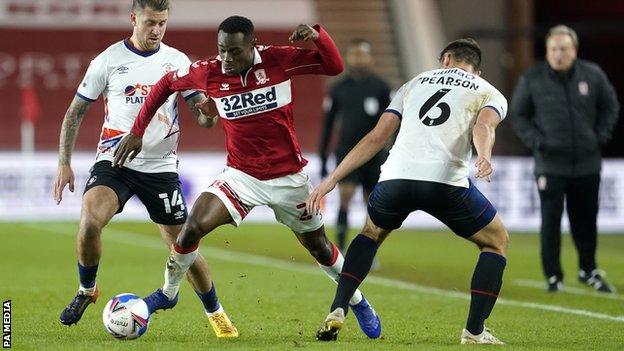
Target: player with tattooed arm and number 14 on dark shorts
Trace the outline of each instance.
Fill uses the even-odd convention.
[[[54,184],[57,204],[61,202],[67,185],[70,191],[74,191],[71,154],[78,128],[91,103],[103,95],[104,125],[96,163],[85,187],[78,228],[80,287],[76,297],[61,313],[60,322],[65,325],[77,323],[87,306],[96,302],[99,292],[95,278],[102,251],[102,228],[123,210],[133,195],[143,202],[167,246],[175,242],[187,218],[177,173],[176,148],[180,129],[176,94],[170,95],[156,112],[157,118],[145,134],[143,152],[123,168],[111,164],[117,143],[130,131],[151,87],[168,71],[190,65],[185,54],[161,42],[168,15],[168,0],[134,0],[130,15],[132,36],[111,45],[91,61],[63,120]],[[201,126],[214,125],[216,119],[206,117],[195,107],[205,99],[203,94],[185,91],[182,96]],[[188,278],[217,336],[237,336],[236,328],[220,308],[203,257],[198,256]]]

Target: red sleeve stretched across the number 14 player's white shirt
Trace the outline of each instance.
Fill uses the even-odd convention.
[[[188,68],[185,67],[169,72],[160,78],[158,83],[150,90],[147,99],[145,99],[145,103],[134,120],[130,133],[142,137],[158,108],[174,92],[184,90],[205,91],[208,76],[207,68],[207,61],[197,61]]]

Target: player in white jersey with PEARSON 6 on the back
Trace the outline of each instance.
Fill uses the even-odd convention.
[[[490,181],[494,131],[505,118],[507,100],[479,77],[481,49],[474,40],[449,43],[440,54],[440,64],[440,69],[423,72],[399,89],[375,129],[308,197],[308,211],[318,211],[321,198],[377,154],[399,129],[369,197],[364,229],[347,250],[330,314],[317,332],[319,340],[336,340],[348,297],[368,274],[379,245],[411,212],[422,210],[481,251],[461,343],[503,344],[484,321],[501,288],[509,236],[468,171],[474,145],[475,178]]]

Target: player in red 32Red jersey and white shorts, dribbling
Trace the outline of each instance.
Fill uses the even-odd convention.
[[[150,310],[176,304],[180,281],[197,257],[204,235],[223,224],[238,226],[253,207],[261,205],[271,207],[275,218],[337,281],[342,254],[325,236],[321,215],[305,210],[312,186],[302,172],[307,161],[295,135],[290,80],[303,74],[337,75],[343,63],[333,40],[319,25],[299,25],[290,41],[312,41],[316,49],[256,45],[249,19],[225,19],[218,31],[218,56],[165,75],[117,148],[115,165],[132,160],[141,151],[145,128],[157,108],[174,92],[189,89],[210,97],[201,109],[210,115],[216,109],[226,133],[228,167],[193,205],[169,256],[163,288],[146,298]],[[379,337],[379,317],[359,291],[349,304],[364,333]]]

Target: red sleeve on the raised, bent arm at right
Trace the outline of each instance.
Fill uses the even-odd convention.
[[[302,49],[294,46],[274,47],[282,67],[289,76],[300,74],[338,75],[344,69],[340,51],[334,40],[320,25],[313,27],[319,37],[314,41],[316,49]]]

